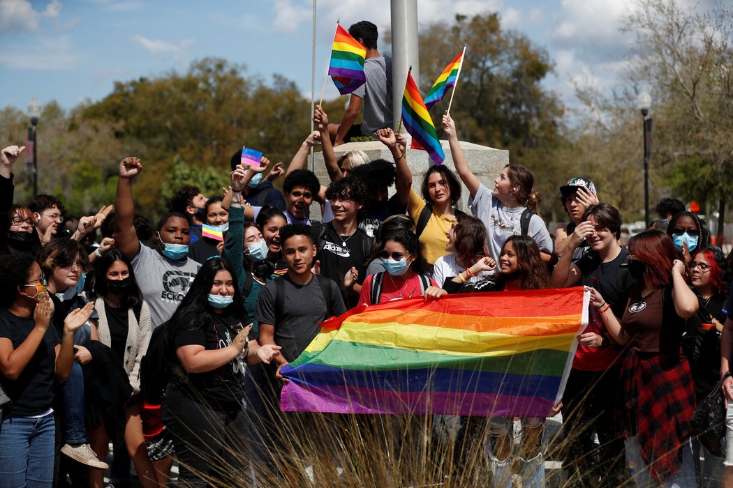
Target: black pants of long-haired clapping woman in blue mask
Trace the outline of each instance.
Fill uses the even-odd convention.
[[[248,422],[241,406],[212,408],[169,383],[163,398],[163,424],[176,448],[180,484],[250,484]]]

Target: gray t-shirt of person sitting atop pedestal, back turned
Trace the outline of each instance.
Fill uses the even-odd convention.
[[[353,91],[364,107],[361,135],[375,135],[377,129],[392,127],[392,59],[389,56],[364,61],[367,82]]]

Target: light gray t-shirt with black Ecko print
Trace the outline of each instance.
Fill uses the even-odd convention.
[[[155,329],[171,318],[201,264],[191,258],[170,260],[142,243],[132,263],[142,298],[150,307],[150,323]]]

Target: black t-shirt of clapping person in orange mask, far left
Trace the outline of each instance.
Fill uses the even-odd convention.
[[[0,337],[10,339],[13,349],[26,340],[35,326],[33,318],[18,317],[7,309],[0,310]],[[51,408],[54,400],[56,345],[60,342],[54,326],[49,326],[43,341],[18,379],[9,380],[0,375],[0,383],[12,401],[11,415],[37,416]]]

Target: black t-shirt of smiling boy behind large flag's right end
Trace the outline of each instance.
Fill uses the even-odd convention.
[[[631,277],[627,269],[620,267],[628,255],[626,249],[621,249],[616,259],[603,263],[600,255],[591,251],[575,263],[583,275],[581,283],[598,290],[606,303],[611,305],[614,315],[619,318],[624,315],[629,289],[636,283],[636,279]]]

